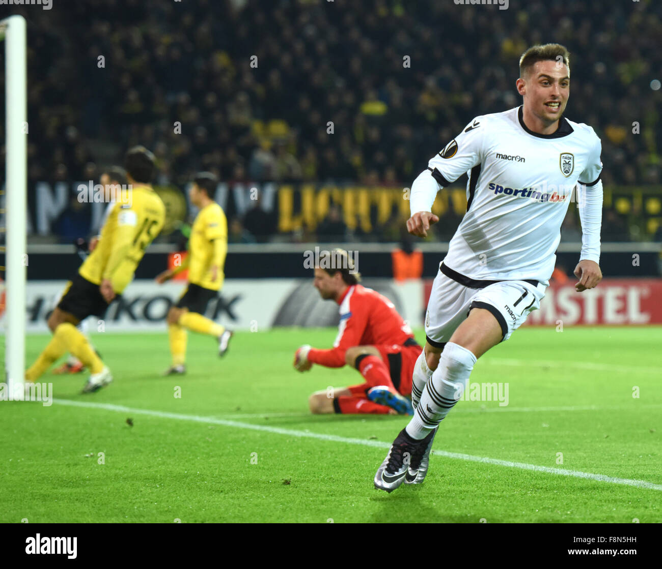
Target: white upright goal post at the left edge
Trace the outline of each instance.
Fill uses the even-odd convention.
[[[23,393],[27,215],[27,57],[23,16],[0,21],[5,43],[5,377],[10,393]],[[20,397],[20,395],[19,395]]]

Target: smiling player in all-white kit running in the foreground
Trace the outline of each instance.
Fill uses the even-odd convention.
[[[426,237],[439,221],[430,211],[437,192],[469,175],[467,211],[430,293],[426,346],[414,367],[414,416],[375,474],[380,490],[423,481],[438,425],[461,398],[477,358],[540,307],[573,195],[582,226],[575,288],[602,279],[601,145],[590,126],[563,118],[567,50],[528,49],[516,87],[522,106],[477,116],[412,184],[407,229]]]

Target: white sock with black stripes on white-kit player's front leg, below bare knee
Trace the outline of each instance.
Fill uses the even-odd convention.
[[[410,437],[424,439],[448,415],[462,397],[475,363],[476,356],[467,348],[453,342],[446,344],[439,365],[426,383],[414,416],[405,428]]]

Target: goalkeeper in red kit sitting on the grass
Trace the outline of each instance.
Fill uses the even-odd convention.
[[[365,383],[313,393],[308,399],[310,411],[411,415],[413,408],[407,396],[422,348],[393,303],[360,285],[360,280],[342,249],[322,252],[314,268],[313,286],[323,299],[339,305],[338,336],[329,350],[301,346],[294,367],[308,371],[313,364],[350,365]]]

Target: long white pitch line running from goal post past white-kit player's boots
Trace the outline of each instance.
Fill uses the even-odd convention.
[[[222,425],[226,427],[234,427],[237,429],[248,429],[252,431],[263,431],[267,433],[275,433],[279,435],[287,435],[294,437],[307,437],[310,439],[319,439],[322,441],[333,441],[336,443],[348,443],[352,445],[362,445],[365,447],[377,447],[380,449],[389,449],[391,443],[383,443],[381,441],[374,441],[370,439],[353,439],[349,437],[340,437],[338,435],[327,435],[322,433],[311,433],[310,431],[299,431],[294,429],[283,429],[280,427],[271,427],[266,425],[253,425],[250,423],[240,423],[238,421],[230,421],[227,419],[216,419],[213,417],[203,417],[199,415],[185,415],[180,413],[170,413],[166,411],[156,411],[150,409],[135,409],[126,407],[124,405],[113,405],[110,403],[93,403],[87,401],[74,401],[70,399],[54,399],[54,402],[60,405],[69,405],[72,407],[87,407],[93,409],[105,409],[108,411],[117,411],[123,413],[131,413],[134,415],[148,415],[152,417],[177,419],[180,421],[195,421],[198,423],[207,423],[213,425]],[[606,476],[604,474],[592,474],[581,471],[569,471],[565,469],[554,469],[549,467],[541,467],[538,465],[530,465],[527,463],[516,463],[511,461],[502,461],[499,459],[491,459],[489,457],[476,457],[473,455],[465,455],[461,453],[450,453],[448,451],[432,451],[433,455],[438,457],[447,457],[449,459],[459,459],[463,461],[472,461],[477,463],[496,465],[509,468],[517,468],[528,471],[542,472],[548,474],[559,474],[561,476],[573,476],[575,478],[588,478],[589,480],[596,480],[598,482],[609,482],[610,484],[623,484],[625,486],[635,486],[636,488],[645,488],[647,490],[660,490],[662,491],[662,484],[653,484],[646,480],[632,480],[630,478],[615,478],[614,476]]]

